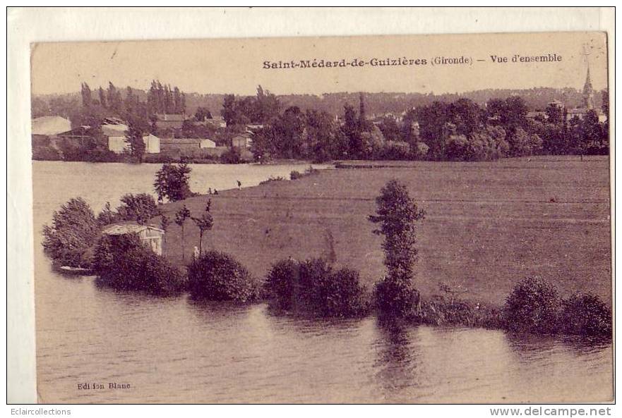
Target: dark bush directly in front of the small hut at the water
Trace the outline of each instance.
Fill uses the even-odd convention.
[[[185,287],[183,274],[145,247],[136,234],[102,236],[95,249],[93,270],[100,284],[116,290],[165,296]]]

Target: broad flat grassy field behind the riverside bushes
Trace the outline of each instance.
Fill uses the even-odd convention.
[[[366,216],[382,186],[397,178],[427,214],[419,226],[416,285],[422,293],[435,293],[444,281],[466,288],[466,299],[498,304],[516,281],[537,275],[556,283],[562,295],[592,290],[611,298],[606,157],[373,165],[211,196],[215,226],[204,248],[233,254],[261,277],[277,259],[333,252],[337,264],[358,269],[371,285],[383,276],[382,238]],[[185,203],[198,216],[207,199],[166,204],[164,211],[174,219]],[[187,262],[198,228],[189,220],[185,229]],[[174,223],[165,255],[182,262]]]

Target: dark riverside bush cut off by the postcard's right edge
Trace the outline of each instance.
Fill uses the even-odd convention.
[[[593,293],[575,293],[562,302],[564,333],[580,336],[611,336],[611,309]]]

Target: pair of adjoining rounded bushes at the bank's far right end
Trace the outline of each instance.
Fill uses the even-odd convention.
[[[611,336],[611,310],[592,293],[562,300],[554,285],[528,277],[508,296],[503,326],[518,332]]]

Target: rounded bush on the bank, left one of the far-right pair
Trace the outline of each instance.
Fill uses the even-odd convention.
[[[536,277],[515,285],[503,309],[505,327],[510,331],[555,333],[561,301],[557,288]]]

